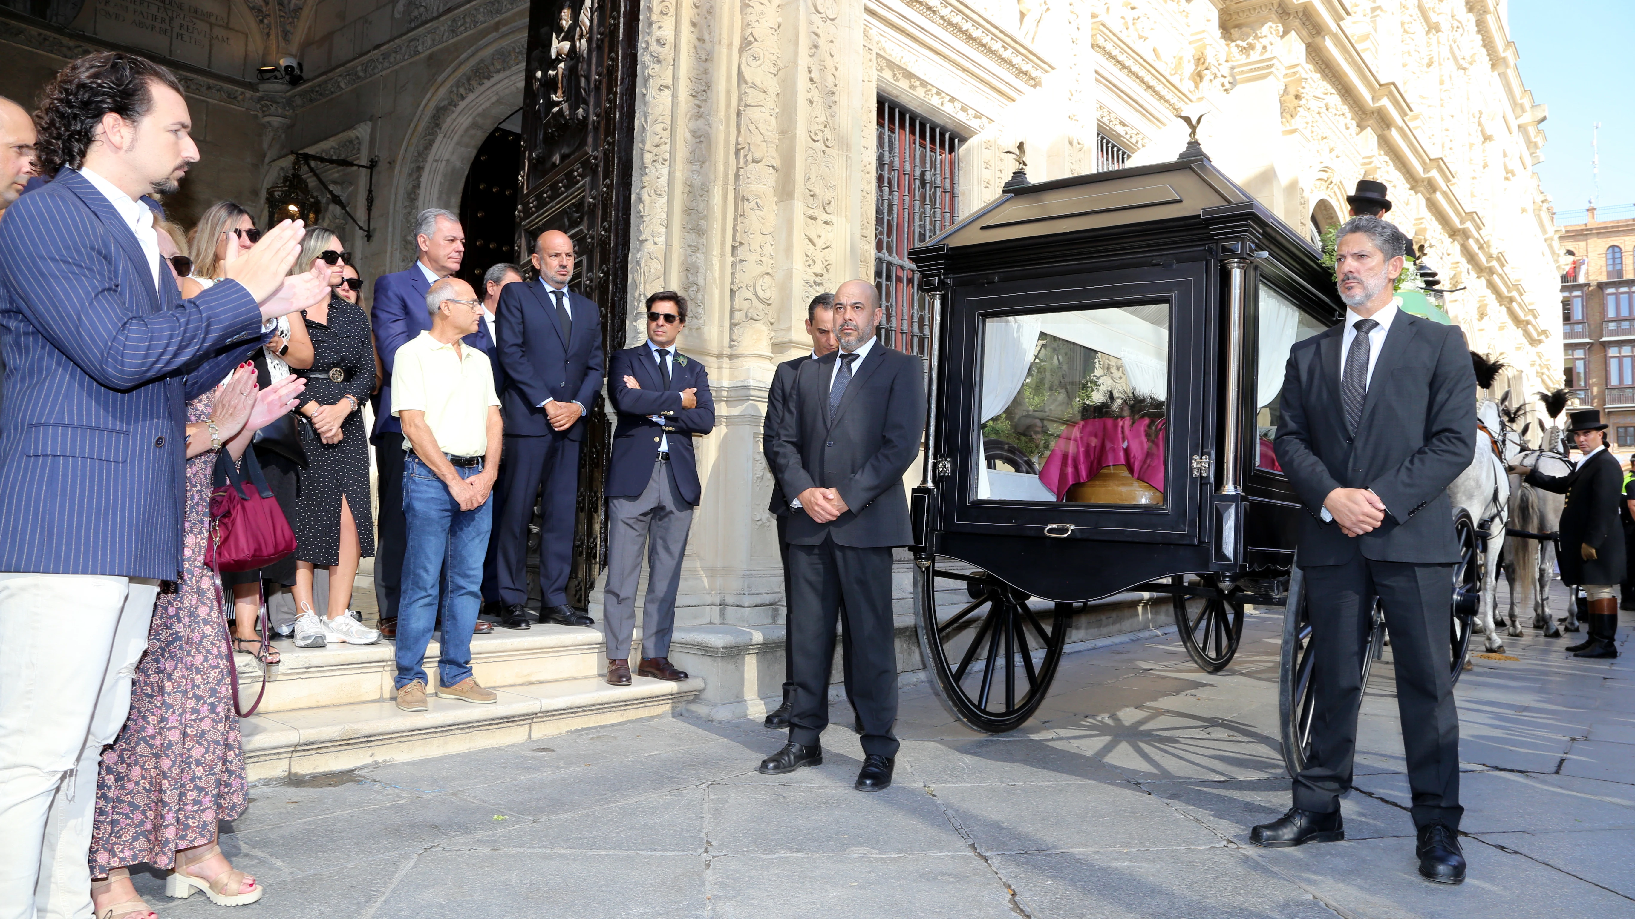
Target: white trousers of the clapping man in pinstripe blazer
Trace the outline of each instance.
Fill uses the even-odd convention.
[[[157,595],[146,577],[0,574],[0,919],[92,916],[96,764]]]

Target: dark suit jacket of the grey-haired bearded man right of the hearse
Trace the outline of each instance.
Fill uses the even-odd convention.
[[[1344,564],[1359,551],[1373,561],[1458,561],[1447,486],[1476,450],[1476,374],[1457,325],[1398,311],[1380,347],[1352,435],[1341,404],[1344,324],[1288,350],[1283,370],[1277,463],[1306,515],[1300,564]],[[1373,489],[1385,523],[1357,538],[1321,518],[1337,487]]]

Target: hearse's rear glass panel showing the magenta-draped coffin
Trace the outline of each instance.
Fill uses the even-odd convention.
[[[1171,304],[981,322],[971,497],[1162,507]]]

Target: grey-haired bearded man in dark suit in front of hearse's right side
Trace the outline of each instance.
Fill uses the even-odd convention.
[[[1364,620],[1378,598],[1396,657],[1419,873],[1465,880],[1458,847],[1458,710],[1449,674],[1450,566],[1458,561],[1447,486],[1476,443],[1476,378],[1465,335],[1396,307],[1401,235],[1378,217],[1341,226],[1334,275],[1346,321],[1298,342],[1280,396],[1277,461],[1300,495],[1305,595],[1321,711],[1293,808],[1254,827],[1257,845],[1344,839],[1362,700]]]

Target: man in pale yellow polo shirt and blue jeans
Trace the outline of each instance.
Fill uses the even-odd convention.
[[[482,301],[443,278],[425,294],[432,329],[404,342],[392,361],[392,414],[404,428],[402,592],[397,600],[397,708],[427,710],[425,646],[446,569],[441,698],[492,703],[471,675],[471,628],[482,605],[494,477],[500,468],[500,401],[489,358],[461,338],[477,330]]]

